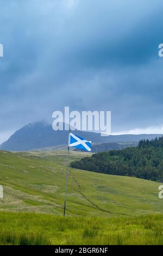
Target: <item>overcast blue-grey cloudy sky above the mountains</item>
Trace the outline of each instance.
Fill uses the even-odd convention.
[[[0,7],[0,143],[65,106],[111,111],[112,133],[163,133],[161,0]]]

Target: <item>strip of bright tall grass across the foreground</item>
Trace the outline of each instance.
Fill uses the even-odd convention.
[[[163,245],[163,215],[60,217],[0,212],[1,245]]]

